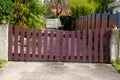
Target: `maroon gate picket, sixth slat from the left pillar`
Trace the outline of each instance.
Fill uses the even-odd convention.
[[[38,60],[41,60],[42,30],[38,30]]]

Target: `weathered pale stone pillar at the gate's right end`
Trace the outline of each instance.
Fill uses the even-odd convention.
[[[120,60],[120,29],[113,29],[110,41],[111,62]]]

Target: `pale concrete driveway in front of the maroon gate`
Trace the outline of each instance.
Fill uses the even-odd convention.
[[[8,62],[0,80],[120,80],[110,64]]]

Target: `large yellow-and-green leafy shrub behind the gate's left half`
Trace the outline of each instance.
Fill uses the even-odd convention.
[[[11,24],[24,26],[24,28],[44,28],[47,13],[45,5],[39,0],[12,0],[15,5]]]

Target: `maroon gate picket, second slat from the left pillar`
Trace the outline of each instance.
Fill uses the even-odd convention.
[[[14,29],[14,39],[15,39],[15,43],[14,43],[14,60],[18,60],[18,27],[15,26]]]

